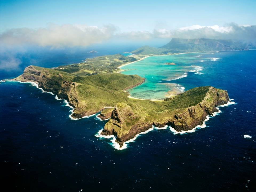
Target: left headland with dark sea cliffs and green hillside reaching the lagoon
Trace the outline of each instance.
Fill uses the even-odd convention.
[[[78,77],[37,66],[26,67],[23,74],[13,80],[35,82],[44,91],[66,99],[74,107],[71,115],[73,118],[92,115],[105,108],[111,108],[120,101],[124,102],[129,94],[123,90],[144,82],[144,78],[138,75],[112,73]],[[103,113],[102,118],[109,118],[110,115],[111,112]]]

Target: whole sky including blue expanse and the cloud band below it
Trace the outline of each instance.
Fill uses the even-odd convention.
[[[175,37],[255,42],[255,7],[255,0],[1,0],[0,49],[25,45],[58,49]]]

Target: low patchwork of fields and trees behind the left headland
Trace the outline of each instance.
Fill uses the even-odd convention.
[[[121,54],[105,55],[87,58],[83,63],[59,66],[56,69],[84,77],[91,74],[113,73],[113,71],[117,70],[118,66],[137,60]]]

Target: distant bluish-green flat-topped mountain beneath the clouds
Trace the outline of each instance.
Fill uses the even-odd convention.
[[[204,52],[204,51],[234,51],[256,49],[256,46],[243,42],[222,39],[180,39],[173,38],[166,45],[154,48],[143,46],[131,53],[135,55],[159,55],[170,53]]]

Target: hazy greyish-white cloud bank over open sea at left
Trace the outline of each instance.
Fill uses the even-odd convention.
[[[50,47],[88,46],[110,39],[116,28],[106,25],[102,28],[87,25],[54,25],[39,29],[10,29],[0,35],[5,46],[39,45]]]

